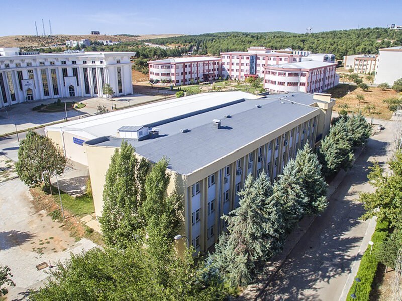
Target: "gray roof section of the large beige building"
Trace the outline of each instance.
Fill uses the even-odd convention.
[[[294,95],[294,96],[291,96]],[[129,139],[136,153],[156,162],[169,158],[169,168],[180,174],[195,170],[224,157],[252,141],[286,124],[319,110],[309,106],[317,102],[312,94],[293,93],[268,95],[263,99],[242,102],[203,112],[158,126],[159,137],[137,141]],[[257,107],[260,106],[260,107]],[[229,118],[224,116],[230,115]],[[221,120],[221,128],[213,128],[214,119]],[[180,129],[189,131],[182,133]],[[98,146],[119,147],[122,139],[109,137]]]

